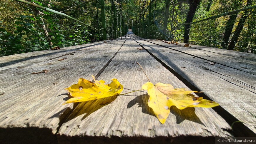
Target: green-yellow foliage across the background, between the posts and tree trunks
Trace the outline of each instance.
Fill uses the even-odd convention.
[[[205,19],[226,11],[241,9],[245,6],[246,1],[247,0],[201,1],[193,21]],[[95,28],[102,28],[100,14],[101,6],[98,4],[97,14],[97,1],[62,0],[51,1],[51,3],[49,3],[49,0],[41,0],[40,2],[31,0],[31,2],[63,12]],[[147,9],[147,7],[150,2],[151,0],[114,1],[118,11],[122,13],[122,17],[126,24],[127,19],[133,19],[134,29],[136,29],[136,26],[140,25],[140,29],[137,29],[136,31],[137,35],[144,38],[147,36],[148,20],[150,19],[150,38],[160,39],[162,38],[164,24],[165,1],[157,1],[157,3],[153,1],[152,17],[148,18],[149,9]],[[184,26],[176,26],[185,23],[189,3],[186,3],[186,1],[174,2],[174,13],[172,13],[173,5],[170,4],[169,7],[166,39],[183,41]],[[209,2],[211,2],[210,9],[207,9]],[[143,6],[143,4],[145,5]],[[253,4],[255,4],[255,2]],[[37,9],[27,4],[16,2],[14,0],[5,0],[0,1],[0,5],[0,56],[46,50],[54,46],[74,46],[99,41],[103,38],[102,31],[95,31],[94,29],[81,25],[67,17]],[[114,29],[114,17],[112,16],[111,5],[111,0],[104,1],[108,39],[112,39],[114,33],[120,29],[119,26],[117,26],[117,31],[112,31]],[[144,16],[141,15],[142,9]],[[230,39],[234,34],[242,13],[243,12],[240,12],[237,15]],[[142,16],[141,19],[139,19],[140,15]],[[173,21],[172,15],[174,15]],[[144,23],[142,26],[143,18]],[[223,16],[192,24],[189,32],[189,42],[203,46],[221,48],[228,19],[229,16]],[[250,11],[250,15],[245,21],[244,28],[240,33],[234,50],[256,53],[255,19],[255,11]],[[131,26],[132,23],[130,22],[129,28],[131,28]],[[171,30],[171,27],[175,29],[170,33],[169,31]],[[47,33],[49,36],[47,36]]]

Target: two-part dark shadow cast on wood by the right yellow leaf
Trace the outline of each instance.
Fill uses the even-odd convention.
[[[149,99],[149,95],[147,94],[137,96],[136,98],[134,98],[132,101],[128,103],[127,108],[131,108],[136,103],[138,103],[139,105],[138,107],[142,107],[142,113],[155,116],[152,108],[150,108],[147,104],[148,99]],[[198,118],[198,116],[196,115],[195,108],[185,108],[183,110],[180,110],[176,108],[176,106],[171,106],[170,112],[176,116],[177,124],[182,123],[184,120],[189,120],[205,126],[205,124],[202,123],[200,118]]]

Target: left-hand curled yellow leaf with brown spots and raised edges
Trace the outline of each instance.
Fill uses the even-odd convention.
[[[109,84],[104,84],[105,81],[103,80],[95,80],[94,76],[92,76],[92,78],[95,81],[94,83],[86,79],[79,78],[77,84],[74,84],[69,88],[65,88],[73,98],[70,98],[64,104],[116,96],[123,91],[123,86],[115,78],[113,78],[112,82]]]

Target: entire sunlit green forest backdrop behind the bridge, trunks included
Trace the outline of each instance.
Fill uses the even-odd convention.
[[[1,0],[0,56],[111,40],[126,34],[128,28],[142,38],[256,53],[255,7],[182,25],[253,7],[253,0],[27,1],[73,19],[24,2]],[[128,19],[133,20],[133,27],[131,21],[127,26]]]

